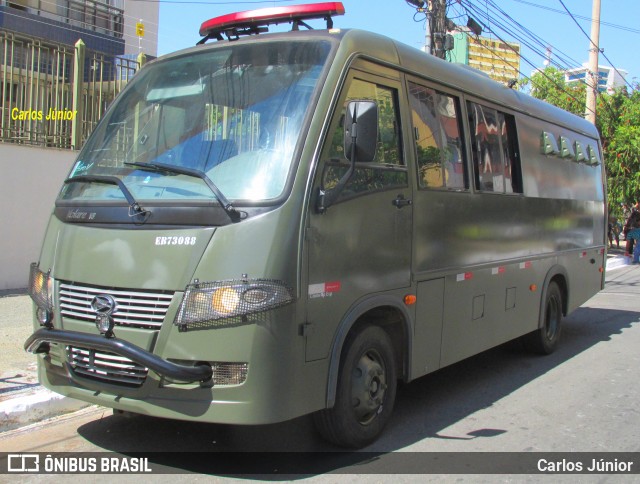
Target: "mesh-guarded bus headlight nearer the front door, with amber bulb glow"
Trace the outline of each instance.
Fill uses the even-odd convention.
[[[293,301],[291,290],[280,281],[251,279],[216,281],[187,286],[174,324],[219,322],[218,326],[244,322],[246,317]],[[238,321],[239,319],[239,321]]]

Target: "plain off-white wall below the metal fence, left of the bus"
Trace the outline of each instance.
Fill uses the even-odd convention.
[[[0,143],[0,291],[25,288],[77,153]]]

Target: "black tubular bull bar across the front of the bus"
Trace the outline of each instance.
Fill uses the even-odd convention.
[[[77,331],[63,331],[42,328],[33,333],[24,343],[24,349],[30,353],[48,353],[49,343],[63,345],[81,345],[96,350],[110,351],[130,359],[161,376],[174,381],[195,382],[209,381],[213,370],[209,365],[185,366],[164,360],[139,346],[118,338],[105,338]]]

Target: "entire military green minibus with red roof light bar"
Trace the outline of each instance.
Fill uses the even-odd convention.
[[[604,284],[595,127],[334,29],[343,12],[217,17],[200,32],[216,42],[150,62],[114,101],[31,267],[45,387],[171,419],[313,414],[363,447],[398,381],[516,338],[556,348]],[[314,17],[327,28],[298,28]]]

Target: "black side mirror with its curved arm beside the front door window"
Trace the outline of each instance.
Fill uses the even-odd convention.
[[[373,101],[350,101],[344,122],[344,152],[349,153],[349,169],[329,189],[318,189],[316,211],[325,213],[349,183],[356,170],[356,162],[370,162],[375,158],[378,139],[378,106]]]

